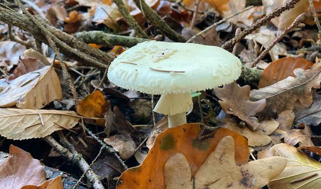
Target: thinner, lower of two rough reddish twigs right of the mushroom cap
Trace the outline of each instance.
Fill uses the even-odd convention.
[[[250,64],[250,67],[254,67],[258,62],[260,62],[260,60],[262,60],[264,56],[266,56],[269,53],[269,51],[274,47],[274,45],[276,45],[287,33],[296,28],[304,20],[304,18],[305,13],[300,14],[293,21],[293,23],[289,27],[284,29],[284,31],[278,37],[276,37],[273,40],[273,42]]]

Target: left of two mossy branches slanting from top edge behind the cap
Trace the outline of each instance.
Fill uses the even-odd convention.
[[[133,30],[136,32],[136,35],[138,37],[147,38],[148,35],[144,32],[144,30],[139,26],[137,21],[134,19],[132,15],[129,14],[127,8],[125,7],[125,4],[122,0],[113,0],[114,3],[117,5],[119,13],[122,15],[126,23],[133,28]]]

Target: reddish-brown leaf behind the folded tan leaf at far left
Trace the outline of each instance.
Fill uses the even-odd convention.
[[[13,75],[9,77],[9,80],[13,80],[25,73],[39,70],[45,66],[46,66],[45,64],[43,64],[40,60],[36,58],[31,58],[31,57],[21,58],[20,63],[14,69]]]

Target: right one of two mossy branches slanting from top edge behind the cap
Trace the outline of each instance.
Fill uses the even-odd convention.
[[[142,11],[146,19],[151,22],[161,33],[166,35],[169,39],[176,42],[185,42],[183,36],[179,35],[175,30],[171,29],[169,25],[161,19],[160,15],[157,14],[144,0],[134,0],[136,6]]]

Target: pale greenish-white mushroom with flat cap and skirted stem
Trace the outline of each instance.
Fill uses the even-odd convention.
[[[240,60],[220,47],[160,41],[129,48],[108,68],[108,79],[117,86],[160,94],[153,111],[168,115],[169,127],[186,123],[191,90],[212,89],[240,74]]]

